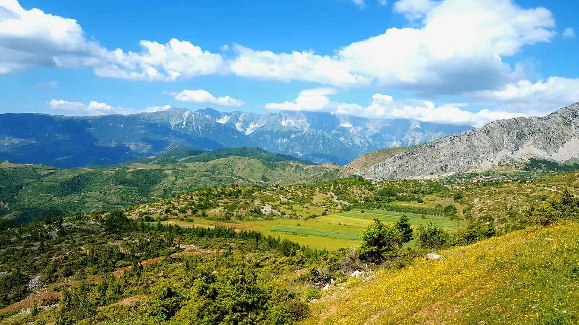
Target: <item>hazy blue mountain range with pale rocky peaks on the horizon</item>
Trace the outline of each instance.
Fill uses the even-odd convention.
[[[426,143],[470,128],[305,111],[173,108],[98,117],[0,114],[0,159],[57,167],[107,165],[158,155],[171,144],[181,144],[199,150],[259,147],[315,163],[345,164],[378,148]]]

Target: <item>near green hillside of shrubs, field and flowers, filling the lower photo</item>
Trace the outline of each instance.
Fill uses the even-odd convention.
[[[228,159],[251,161],[208,163]],[[143,170],[134,165],[123,173]],[[124,210],[0,222],[0,322],[575,324],[576,180],[221,184]],[[53,190],[83,182],[67,184]],[[506,195],[517,190],[520,200]],[[495,212],[507,204],[513,213]],[[442,257],[426,262],[431,252]]]

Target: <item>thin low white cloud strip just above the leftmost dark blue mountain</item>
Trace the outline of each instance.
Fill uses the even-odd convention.
[[[104,115],[104,114],[134,114],[140,112],[152,112],[169,109],[170,106],[151,106],[141,110],[124,109],[123,107],[114,107],[105,103],[99,103],[92,100],[89,104],[80,102],[69,102],[68,100],[52,99],[48,106],[53,110],[69,111],[74,114],[87,115]]]

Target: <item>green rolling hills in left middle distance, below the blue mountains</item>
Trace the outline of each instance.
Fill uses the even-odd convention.
[[[342,167],[312,165],[259,148],[196,150],[171,145],[127,163],[59,169],[0,163],[0,218],[27,221],[47,212],[111,210],[207,186],[312,184],[338,178]]]

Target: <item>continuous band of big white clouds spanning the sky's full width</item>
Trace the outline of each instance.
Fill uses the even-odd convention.
[[[512,68],[503,57],[550,42],[555,35],[552,13],[543,7],[525,9],[511,0],[400,0],[393,10],[412,20],[413,28],[389,28],[331,55],[314,50],[274,53],[234,44],[222,48],[229,54],[224,56],[177,39],[141,40],[139,51],[108,50],[87,40],[74,19],[27,10],[16,0],[4,0],[0,8],[0,74],[34,66],[89,66],[97,76],[126,80],[235,74],[341,88],[404,89],[421,96],[496,91],[529,79],[525,69]]]

